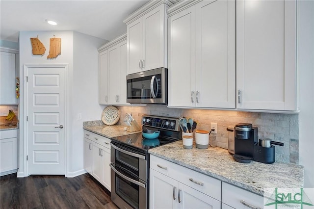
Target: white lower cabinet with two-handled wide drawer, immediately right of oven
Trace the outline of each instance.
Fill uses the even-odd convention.
[[[221,182],[151,155],[151,209],[220,209]]]

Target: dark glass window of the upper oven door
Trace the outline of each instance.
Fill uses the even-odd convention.
[[[116,165],[125,168],[138,176],[139,159],[116,150]]]

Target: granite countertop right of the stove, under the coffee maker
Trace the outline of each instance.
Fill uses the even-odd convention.
[[[236,162],[222,148],[184,149],[182,140],[149,150],[151,155],[263,195],[266,188],[303,187],[304,168],[292,163]],[[271,190],[269,190],[271,191]]]

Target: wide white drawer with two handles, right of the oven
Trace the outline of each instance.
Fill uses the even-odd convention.
[[[221,181],[151,155],[150,168],[188,185],[216,200],[221,200]]]

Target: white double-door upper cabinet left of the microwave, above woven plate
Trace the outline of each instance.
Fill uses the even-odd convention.
[[[112,40],[99,49],[99,103],[128,105],[127,103],[127,36]]]

